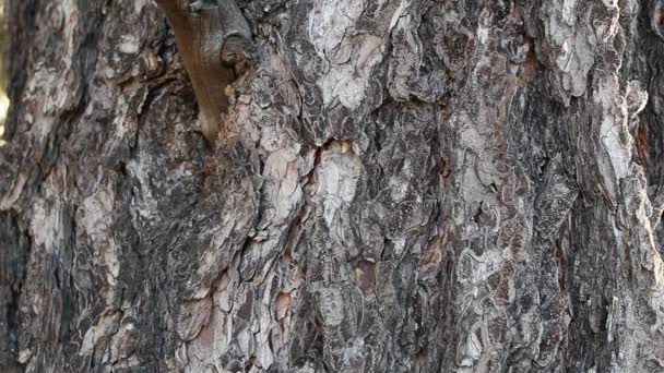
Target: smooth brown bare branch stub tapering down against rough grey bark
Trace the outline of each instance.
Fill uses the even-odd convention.
[[[233,0],[157,0],[193,85],[203,135],[215,142],[228,110],[225,88],[246,68],[251,29]]]

